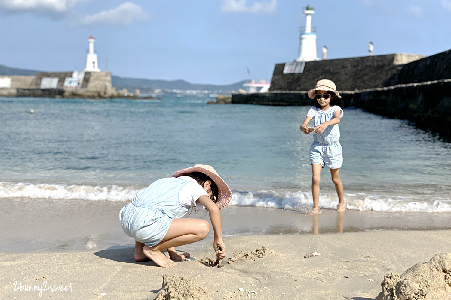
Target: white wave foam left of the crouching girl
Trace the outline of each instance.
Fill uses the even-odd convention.
[[[24,184],[0,182],[0,198],[132,201],[139,189],[117,185]]]

